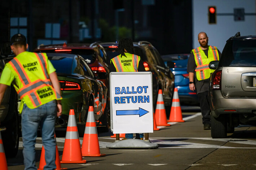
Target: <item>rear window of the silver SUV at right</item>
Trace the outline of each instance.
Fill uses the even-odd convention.
[[[256,41],[230,40],[227,42],[219,66],[256,67]]]

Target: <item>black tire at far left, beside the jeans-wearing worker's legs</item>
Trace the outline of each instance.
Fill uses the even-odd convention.
[[[6,130],[2,133],[5,156],[8,158],[15,157],[19,148],[18,101],[17,95],[13,93],[16,93],[16,91],[11,90],[10,93],[8,110],[8,116],[10,116],[10,118],[3,122]]]

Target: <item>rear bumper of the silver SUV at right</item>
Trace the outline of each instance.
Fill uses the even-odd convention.
[[[214,117],[229,113],[256,112],[256,98],[226,98],[220,90],[209,90],[209,103]]]

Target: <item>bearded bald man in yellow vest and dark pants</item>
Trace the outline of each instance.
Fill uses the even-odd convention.
[[[203,116],[204,130],[209,130],[211,129],[211,108],[208,89],[211,74],[214,72],[209,68],[209,63],[219,60],[221,53],[215,46],[208,45],[208,37],[205,32],[198,34],[198,42],[200,46],[191,50],[187,63],[189,89],[191,91],[196,90]]]

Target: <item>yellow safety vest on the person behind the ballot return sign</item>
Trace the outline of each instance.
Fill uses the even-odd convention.
[[[112,58],[110,63],[113,62],[117,72],[137,72],[140,56],[130,53],[125,53],[125,56],[121,54]]]

